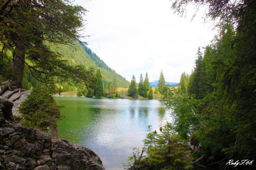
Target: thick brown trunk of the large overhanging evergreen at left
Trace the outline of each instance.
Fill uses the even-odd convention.
[[[22,88],[22,79],[25,66],[25,47],[23,44],[18,42],[15,46],[15,51],[13,52],[13,70],[15,75],[12,77],[16,85]]]

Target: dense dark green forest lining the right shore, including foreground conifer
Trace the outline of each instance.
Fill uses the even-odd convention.
[[[128,169],[255,169],[256,1],[175,0],[172,8],[182,16],[188,4],[206,6],[205,20],[215,20],[219,34],[198,48],[178,88],[161,91],[174,122],[161,133],[149,127]]]

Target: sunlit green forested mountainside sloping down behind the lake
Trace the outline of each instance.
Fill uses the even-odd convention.
[[[108,82],[113,82],[115,75],[117,79],[117,86],[128,88],[129,82],[113,69],[109,68],[109,66],[94,52],[92,52],[90,48],[78,41],[74,42],[74,44],[75,47],[63,44],[52,45],[49,42],[45,42],[45,45],[48,46],[51,51],[61,53],[63,59],[68,60],[70,65],[84,65],[85,67],[100,68],[105,85]]]

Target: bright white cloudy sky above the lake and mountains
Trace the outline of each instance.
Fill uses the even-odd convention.
[[[89,12],[84,16],[88,47],[126,80],[141,73],[158,80],[179,82],[195,66],[198,47],[203,52],[217,34],[203,22],[203,11],[191,21],[174,14],[169,0],[75,0]]]

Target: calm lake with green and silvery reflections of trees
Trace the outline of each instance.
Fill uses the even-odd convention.
[[[148,125],[159,132],[171,121],[164,102],[136,99],[54,97],[61,109],[59,138],[91,148],[107,170],[124,169],[132,148],[142,147]]]

